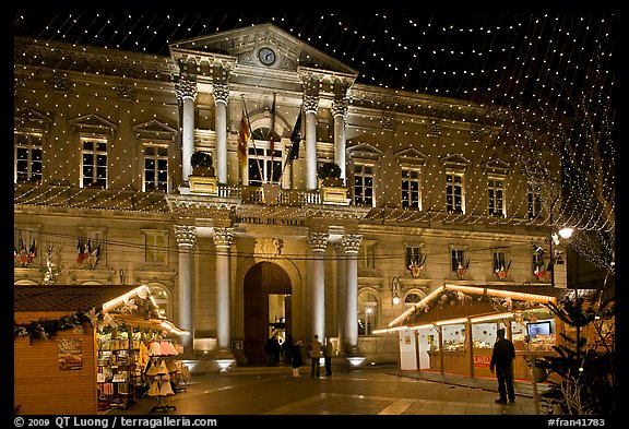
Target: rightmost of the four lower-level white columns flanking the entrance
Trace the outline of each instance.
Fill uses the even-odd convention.
[[[347,315],[345,324],[345,353],[358,351],[358,249],[363,236],[347,234],[343,236],[343,248],[347,259]]]

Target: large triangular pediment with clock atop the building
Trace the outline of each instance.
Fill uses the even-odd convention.
[[[260,60],[260,49],[270,48],[275,58],[270,64]],[[215,60],[233,60],[236,67],[269,68],[296,72],[298,68],[317,69],[355,79],[357,72],[341,61],[321,52],[301,39],[280,27],[266,23],[242,28],[229,29],[209,36],[179,40],[170,44],[176,59],[185,56],[198,56],[197,61],[213,63]]]

